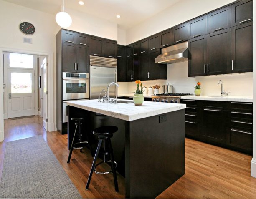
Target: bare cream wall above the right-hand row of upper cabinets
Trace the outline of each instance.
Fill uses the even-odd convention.
[[[161,13],[130,28],[126,32],[126,43],[130,44],[162,30],[195,18],[234,0],[183,0]]]

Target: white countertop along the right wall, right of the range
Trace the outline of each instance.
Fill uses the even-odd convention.
[[[181,99],[188,100],[209,100],[209,101],[235,101],[235,102],[253,102],[250,96],[182,96]]]

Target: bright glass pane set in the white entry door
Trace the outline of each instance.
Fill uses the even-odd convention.
[[[32,73],[11,73],[11,93],[32,93]]]

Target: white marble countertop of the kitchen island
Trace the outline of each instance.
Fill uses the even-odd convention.
[[[80,100],[67,101],[69,106],[82,108],[87,111],[100,113],[106,116],[119,118],[126,121],[133,121],[150,116],[156,116],[163,113],[177,111],[186,108],[185,104],[177,103],[158,103],[151,101],[144,101],[142,106],[135,106],[132,100],[118,100],[130,101],[132,103],[102,103],[95,100]]]

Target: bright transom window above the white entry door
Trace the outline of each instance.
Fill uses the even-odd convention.
[[[33,68],[33,55],[10,53],[10,67]]]

